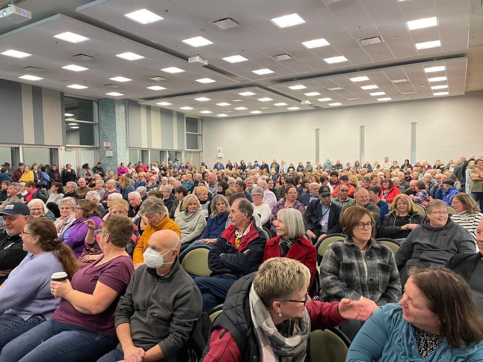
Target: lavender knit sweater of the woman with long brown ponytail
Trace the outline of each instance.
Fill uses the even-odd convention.
[[[59,306],[59,299],[50,293],[50,277],[57,272],[64,272],[64,267],[53,251],[28,253],[0,289],[0,310],[24,320],[35,314],[50,318]]]

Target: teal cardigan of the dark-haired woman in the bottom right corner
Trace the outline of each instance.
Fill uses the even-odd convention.
[[[483,341],[467,349],[451,349],[445,339],[422,358],[413,325],[403,319],[403,308],[386,304],[364,323],[352,342],[346,362],[476,362],[483,360]]]

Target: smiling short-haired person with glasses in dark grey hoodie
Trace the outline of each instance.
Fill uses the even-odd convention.
[[[426,216],[421,227],[413,229],[394,254],[403,287],[408,280],[407,269],[411,266],[444,266],[453,255],[474,253],[473,237],[448,218],[443,201],[430,201]]]

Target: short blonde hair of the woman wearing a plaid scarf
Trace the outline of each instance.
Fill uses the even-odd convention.
[[[275,257],[260,265],[253,280],[253,289],[263,304],[290,299],[293,293],[308,288],[310,271],[298,260]]]

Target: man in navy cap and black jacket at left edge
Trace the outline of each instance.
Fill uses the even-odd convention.
[[[14,183],[16,184],[16,183]],[[21,202],[6,204],[0,215],[3,217],[5,231],[0,234],[0,285],[13,268],[23,260],[27,251],[23,249],[20,233],[30,219],[30,209]]]

